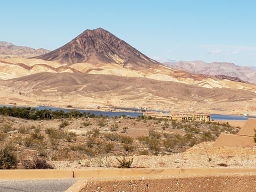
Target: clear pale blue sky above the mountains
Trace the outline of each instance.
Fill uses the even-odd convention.
[[[53,50],[102,27],[150,57],[256,65],[256,0],[0,0],[0,40]]]

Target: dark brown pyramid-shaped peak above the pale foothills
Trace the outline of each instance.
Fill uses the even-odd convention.
[[[144,67],[145,64],[159,64],[102,28],[87,29],[60,48],[36,58],[62,64],[116,63],[132,69],[135,69],[136,65]]]

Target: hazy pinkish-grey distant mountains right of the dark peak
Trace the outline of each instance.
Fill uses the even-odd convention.
[[[237,77],[243,81],[247,81],[250,83],[256,83],[256,69],[249,66],[239,66],[230,62],[206,63],[201,60],[194,60],[194,61],[178,61],[177,63],[164,62],[163,64],[171,68],[184,70],[188,72],[213,75],[213,76],[221,74],[229,77]]]

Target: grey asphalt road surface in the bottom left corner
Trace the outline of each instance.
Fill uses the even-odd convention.
[[[64,192],[76,181],[76,178],[0,180],[0,192]]]

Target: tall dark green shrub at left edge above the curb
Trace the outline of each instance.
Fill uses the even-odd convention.
[[[17,155],[11,144],[0,147],[0,169],[15,169],[18,163]]]

